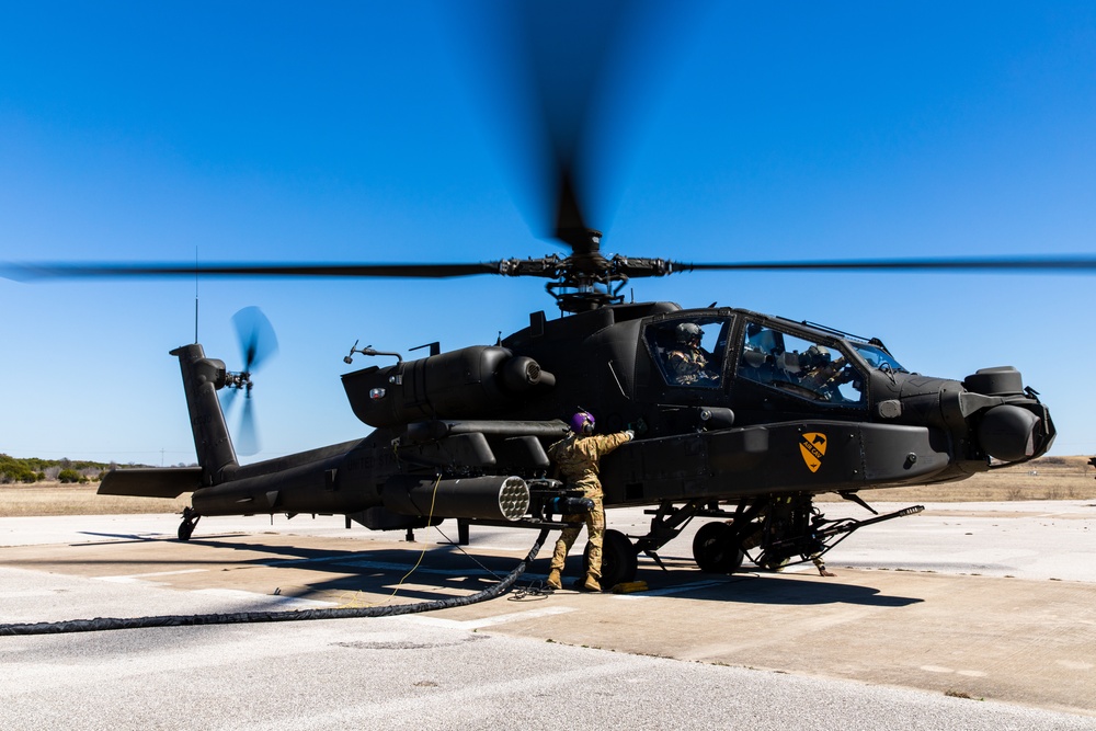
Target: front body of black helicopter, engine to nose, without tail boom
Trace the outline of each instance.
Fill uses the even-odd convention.
[[[682,378],[666,365],[683,323],[711,335],[700,351],[706,377]],[[808,362],[812,349],[829,352],[829,378],[811,380],[819,369],[827,374],[826,365]],[[539,380],[513,375],[530,362]],[[535,313],[529,328],[496,346],[367,368],[344,376],[344,385],[358,418],[398,432],[401,449],[418,442],[444,452],[447,441],[465,436],[450,435],[455,425],[483,433],[477,423],[513,423],[483,433],[492,447],[522,436],[522,422],[579,408],[597,416],[601,431],[632,429],[639,438],[605,460],[607,504],[957,480],[989,469],[991,458],[1037,457],[1054,435],[1046,407],[1015,369],[964,382],[924,377],[901,368],[878,341],[747,310],[666,302],[553,321]]]

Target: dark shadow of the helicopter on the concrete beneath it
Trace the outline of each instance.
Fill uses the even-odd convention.
[[[107,534],[96,535],[107,537]],[[167,535],[125,534],[116,537],[123,540],[78,544],[75,547],[111,544],[127,549],[150,542],[180,544]],[[494,585],[521,560],[514,556],[480,553],[475,548],[465,549],[452,544],[409,542],[406,548],[389,544],[349,551],[267,542],[261,536],[237,533],[195,537],[179,545],[181,549],[184,547],[214,550],[209,555],[205,551],[202,555],[186,551],[184,555],[181,551],[176,560],[168,561],[161,553],[156,558],[116,556],[102,562],[132,568],[142,564],[162,567],[167,562],[219,569],[222,573],[218,583],[222,587],[226,584],[230,589],[247,586],[248,591],[263,595],[359,604],[386,602],[389,597],[393,597],[395,603],[407,603],[472,594]],[[89,563],[88,559],[77,562],[83,566]],[[516,587],[543,586],[548,563],[547,551],[541,548]],[[582,563],[582,553],[572,552],[567,561],[567,576],[580,576],[583,573]],[[657,595],[680,596],[683,599],[779,606],[850,604],[877,607],[902,607],[923,601],[880,595],[877,589],[845,583],[840,576],[820,581],[796,573],[720,575],[699,572],[690,559],[663,557],[663,563],[665,571],[653,562],[640,561],[637,580],[646,581]],[[235,572],[255,569],[269,569],[273,573],[262,578],[258,574],[246,579],[240,575],[239,581],[233,581]]]

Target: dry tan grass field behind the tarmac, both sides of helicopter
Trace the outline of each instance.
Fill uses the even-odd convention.
[[[1015,468],[993,470],[939,486],[897,488],[866,493],[888,502],[1004,502],[1016,500],[1094,500],[1096,469],[1087,457],[1043,457]],[[114,515],[180,513],[190,496],[178,500],[96,495],[90,484],[0,484],[0,517],[32,515]],[[820,500],[840,500],[822,495]]]

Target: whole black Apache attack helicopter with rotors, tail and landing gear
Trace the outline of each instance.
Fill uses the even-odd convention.
[[[551,45],[551,44],[549,44]],[[552,47],[558,46],[555,44]],[[570,47],[570,46],[568,46]],[[539,62],[541,70],[551,61]],[[537,75],[534,75],[537,76]],[[543,76],[543,75],[541,75]],[[540,78],[537,76],[537,78]],[[488,263],[9,265],[34,276],[534,276],[562,317],[543,311],[527,328],[477,345],[404,361],[373,347],[356,354],[395,357],[344,375],[364,438],[240,465],[218,400],[224,389],[250,392],[263,345],[248,335],[244,367],[229,372],[202,345],[179,359],[198,467],[116,470],[100,492],[176,496],[193,492],[179,537],[199,518],[239,514],[341,514],[347,525],[413,529],[445,518],[464,524],[558,526],[581,510],[555,479],[546,446],[561,438],[579,408],[598,430],[632,429],[637,438],[602,465],[605,505],[652,507],[642,536],[605,536],[603,582],[630,580],[637,556],[658,551],[693,518],[693,545],[706,571],[738,570],[750,551],[762,567],[818,556],[848,532],[909,514],[827,521],[814,496],[961,480],[1043,455],[1054,439],[1050,413],[1012,367],[962,380],[912,373],[878,339],[744,309],[683,309],[626,302],[625,283],[690,270],[1076,270],[1094,261],[932,260],[685,264],[606,256],[583,210],[579,174],[581,90],[566,82],[563,103],[544,89],[545,149],[552,236],[569,253]],[[263,330],[261,328],[260,330]],[[669,365],[675,349],[699,349],[706,367],[687,378]],[[612,512],[609,512],[612,521]]]

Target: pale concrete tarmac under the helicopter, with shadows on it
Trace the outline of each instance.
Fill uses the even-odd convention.
[[[0,518],[0,621],[461,596],[534,538],[298,516],[184,544],[178,519]],[[1096,505],[929,505],[850,536],[834,578],[700,573],[696,527],[636,594],[540,593],[549,546],[520,591],[430,615],[0,637],[0,728],[1096,729]]]

